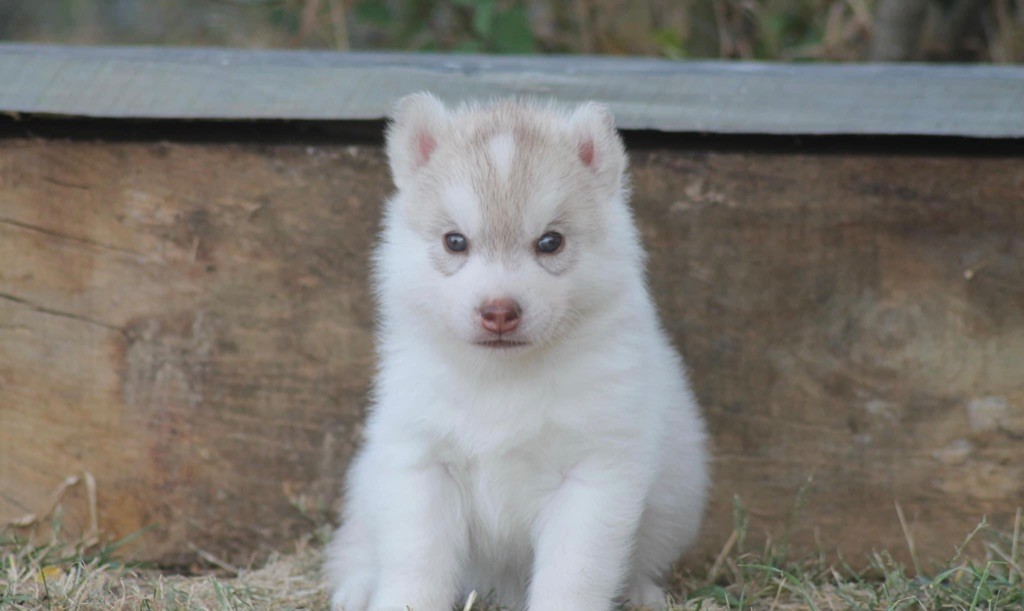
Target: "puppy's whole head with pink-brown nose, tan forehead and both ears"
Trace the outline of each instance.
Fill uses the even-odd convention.
[[[608,299],[626,157],[607,110],[453,113],[419,94],[399,103],[388,156],[402,237],[383,257],[400,315],[481,351],[525,351]]]

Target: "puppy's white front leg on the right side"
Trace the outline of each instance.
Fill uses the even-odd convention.
[[[540,516],[530,611],[601,611],[624,584],[642,511],[633,474],[577,469]]]

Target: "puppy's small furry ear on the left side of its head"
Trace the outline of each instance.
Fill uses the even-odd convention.
[[[387,128],[391,178],[398,189],[411,185],[416,173],[427,165],[447,124],[447,108],[430,93],[414,93],[398,100]]]

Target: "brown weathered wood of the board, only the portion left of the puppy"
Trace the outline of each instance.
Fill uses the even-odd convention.
[[[386,180],[374,150],[3,143],[0,523],[85,471],[147,557],[308,529],[290,504],[334,497],[359,427]]]

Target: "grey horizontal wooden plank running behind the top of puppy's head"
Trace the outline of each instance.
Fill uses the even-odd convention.
[[[0,45],[0,111],[379,120],[403,94],[608,102],[624,129],[1024,136],[1024,68]]]

